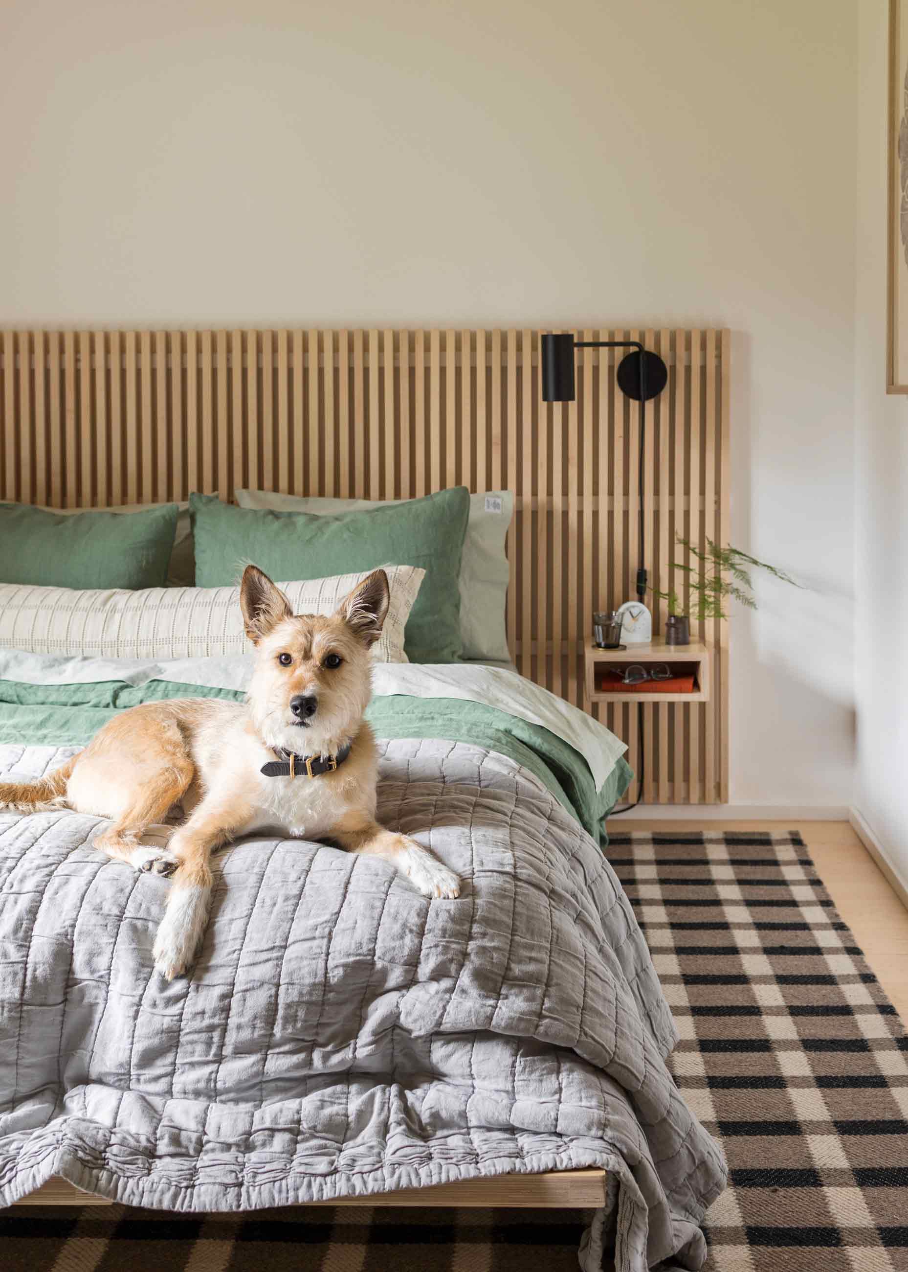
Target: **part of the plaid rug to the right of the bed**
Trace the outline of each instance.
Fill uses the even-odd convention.
[[[908,1040],[799,834],[612,836],[731,1187],[710,1272],[908,1268]]]

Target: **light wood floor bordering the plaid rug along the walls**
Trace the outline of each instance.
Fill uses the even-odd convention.
[[[616,823],[613,822],[612,826]],[[646,822],[631,831],[800,831],[867,963],[908,1023],[908,909],[847,822]]]

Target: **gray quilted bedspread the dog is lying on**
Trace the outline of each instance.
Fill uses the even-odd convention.
[[[52,1174],[237,1211],[598,1165],[582,1267],[698,1267],[725,1166],[665,1067],[671,1015],[602,851],[511,759],[382,747],[379,817],[462,897],[245,840],[170,985],[151,963],[167,881],[97,854],[95,818],[0,813],[0,1202]],[[0,747],[0,772],[70,753]]]

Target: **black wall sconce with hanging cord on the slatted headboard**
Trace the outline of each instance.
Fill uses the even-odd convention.
[[[640,566],[637,569],[637,598],[646,597],[647,575],[643,565],[643,427],[646,403],[659,397],[669,382],[669,369],[659,356],[645,349],[638,340],[575,340],[571,332],[544,332],[542,336],[542,399],[543,402],[574,402],[576,396],[575,350],[577,349],[631,349],[618,363],[616,379],[618,388],[633,402],[640,402]]]

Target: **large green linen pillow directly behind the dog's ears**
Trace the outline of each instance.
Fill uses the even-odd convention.
[[[443,490],[371,511],[315,516],[252,511],[191,495],[196,585],[237,581],[252,561],[272,579],[320,579],[374,570],[390,561],[426,571],[407,619],[404,649],[412,663],[454,663],[460,656],[460,555],[469,491]]]

